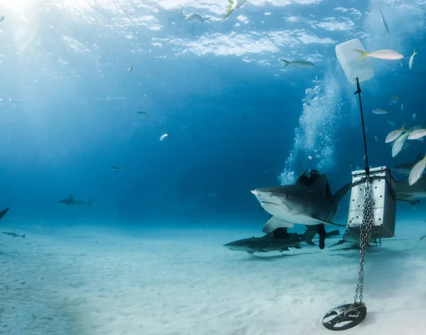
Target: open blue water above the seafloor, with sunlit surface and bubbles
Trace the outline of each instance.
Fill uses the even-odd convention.
[[[318,169],[334,192],[364,169],[356,87],[334,55],[352,38],[404,55],[372,59],[375,76],[361,83],[369,164],[424,154],[412,141],[392,158],[384,139],[425,121],[425,3],[253,0],[222,21],[227,8],[226,0],[0,0],[0,210],[10,208],[2,222],[46,231],[208,222],[260,235],[268,215],[253,188]],[[206,21],[185,22],[194,12]],[[279,58],[315,69],[281,70]],[[94,202],[58,204],[70,195]],[[347,197],[341,206],[344,223]],[[398,215],[424,212],[398,205]]]

